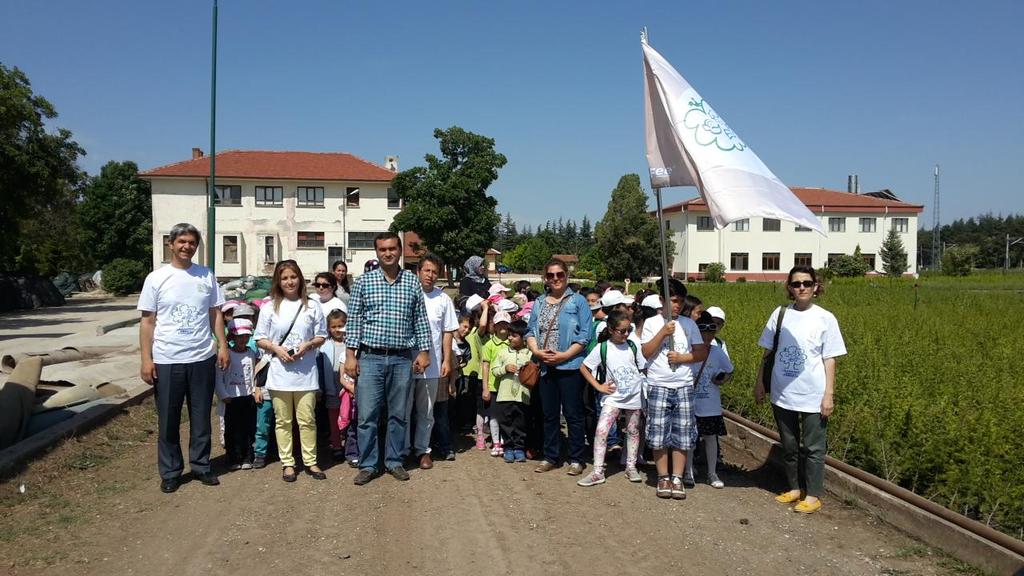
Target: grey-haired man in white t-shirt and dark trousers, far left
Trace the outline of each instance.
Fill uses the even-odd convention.
[[[210,410],[216,368],[230,363],[220,312],[224,296],[213,273],[191,261],[201,242],[199,231],[189,223],[175,224],[169,242],[171,263],[145,277],[138,298],[139,373],[156,387],[157,467],[165,493],[178,489],[184,471],[178,429],[185,399],[193,476],[207,486],[220,484],[210,471]]]

